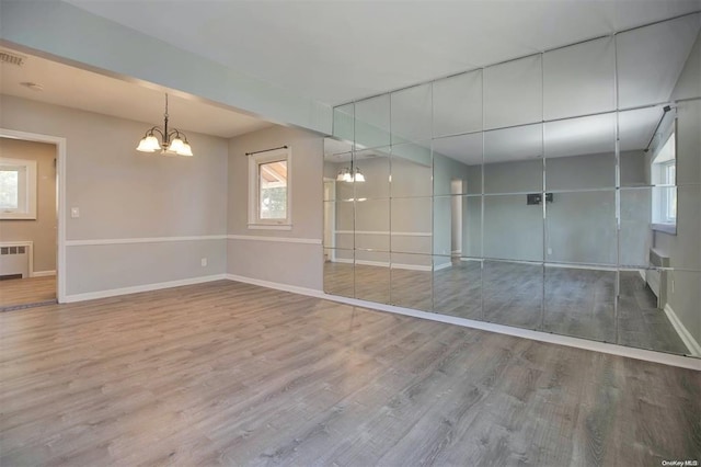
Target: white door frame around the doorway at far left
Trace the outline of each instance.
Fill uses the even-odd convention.
[[[66,138],[38,133],[18,132],[1,128],[0,137],[23,139],[25,141],[48,143],[56,146],[56,217],[58,239],[56,247],[56,298],[59,304],[66,303]]]

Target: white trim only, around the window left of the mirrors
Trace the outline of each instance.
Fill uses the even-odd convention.
[[[261,219],[258,217],[258,166],[261,163],[287,160],[287,219]],[[291,230],[292,229],[292,150],[279,148],[249,156],[249,229]]]

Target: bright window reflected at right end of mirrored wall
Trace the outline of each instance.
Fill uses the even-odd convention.
[[[652,163],[653,228],[674,234],[677,224],[677,155],[671,132],[654,151]]]

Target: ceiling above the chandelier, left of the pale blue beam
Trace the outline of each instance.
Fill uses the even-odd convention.
[[[26,57],[22,66],[0,64],[1,94],[162,126],[164,93],[169,92],[169,123],[182,130],[231,138],[272,125],[162,87],[125,81],[45,58],[20,55]],[[23,82],[42,84],[44,90],[33,91],[22,86]]]

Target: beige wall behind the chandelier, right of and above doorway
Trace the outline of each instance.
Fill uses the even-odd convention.
[[[188,132],[195,157],[136,151],[133,122],[0,96],[0,127],[67,139],[67,240],[226,234],[227,140]],[[71,207],[80,217],[71,218]],[[226,272],[226,241],[68,247],[68,295]],[[207,258],[207,266],[200,259]]]

